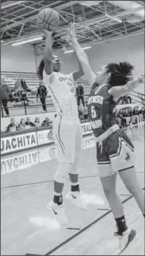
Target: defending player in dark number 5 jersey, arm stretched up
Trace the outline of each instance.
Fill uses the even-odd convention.
[[[136,230],[128,228],[125,222],[122,202],[116,191],[117,172],[143,215],[144,191],[136,178],[133,144],[117,125],[113,111],[120,97],[136,89],[138,84],[144,83],[144,73],[133,80],[133,66],[128,62],[109,63],[101,67],[98,73],[93,73],[87,55],[84,57],[84,51],[75,37],[74,24],[69,29],[68,40],[71,41],[87,81],[92,86],[88,112],[97,142],[98,171],[104,194],[117,223],[117,232],[114,235],[119,238],[119,252],[122,252],[133,241]]]

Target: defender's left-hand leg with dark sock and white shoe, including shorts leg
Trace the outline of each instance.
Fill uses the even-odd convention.
[[[119,199],[116,191],[116,174],[119,163],[119,161],[117,161],[117,155],[119,155],[120,151],[117,133],[111,134],[106,143],[103,142],[102,149],[97,144],[97,149],[99,175],[101,177],[104,194],[106,195],[106,199],[109,202],[111,211],[117,224],[117,232],[114,233],[114,235],[119,237],[119,252],[121,252],[125,249],[125,246],[128,246],[130,241],[133,240],[134,236],[136,235],[136,231],[128,229],[125,222],[122,202]],[[109,154],[111,154],[112,158],[110,158]],[[128,243],[129,235],[130,241]],[[122,241],[122,238],[125,239]]]

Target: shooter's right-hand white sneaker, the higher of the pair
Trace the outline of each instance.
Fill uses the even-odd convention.
[[[81,208],[82,210],[87,210],[87,206],[85,205],[84,200],[81,197],[81,193],[79,191],[68,191],[66,194],[66,199],[74,202],[74,205]]]

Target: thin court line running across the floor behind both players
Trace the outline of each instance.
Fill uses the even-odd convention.
[[[144,173],[144,171],[136,172],[136,173]],[[83,177],[79,177],[79,180],[84,179],[84,178],[95,178],[95,177],[99,177],[99,175],[83,176]],[[69,178],[66,180],[69,180]],[[25,184],[13,185],[13,186],[4,186],[1,189],[12,189],[12,188],[20,187],[20,186],[31,186],[31,185],[37,185],[37,184],[43,184],[43,183],[50,183],[50,182],[54,182],[54,180],[44,180],[44,181],[38,181],[38,182],[34,182],[34,183],[25,183]]]

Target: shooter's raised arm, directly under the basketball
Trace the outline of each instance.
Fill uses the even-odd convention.
[[[44,70],[47,75],[52,73],[52,32],[43,29],[46,34],[45,47],[44,47]]]

